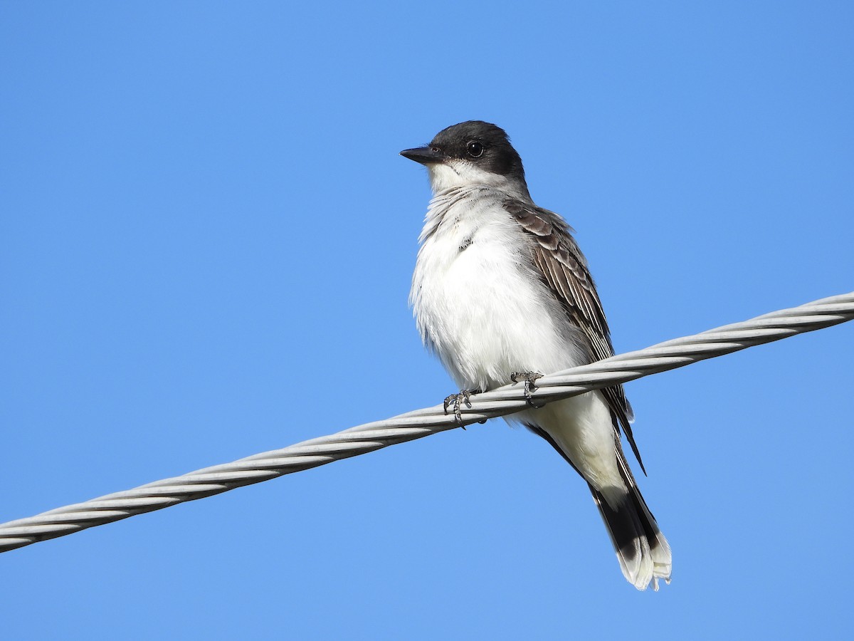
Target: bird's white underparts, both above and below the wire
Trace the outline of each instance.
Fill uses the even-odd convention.
[[[506,385],[514,372],[553,373],[588,362],[587,339],[536,272],[518,223],[500,201],[478,203],[428,213],[410,294],[424,343],[465,390]],[[623,491],[600,392],[508,420],[541,426],[606,496],[612,487]]]

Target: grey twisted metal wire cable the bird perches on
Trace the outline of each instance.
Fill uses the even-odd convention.
[[[812,332],[854,318],[854,292],[822,298],[791,309],[781,309],[750,321],[734,323],[631,351],[604,361],[543,376],[536,381],[532,400],[548,403],[600,387],[625,383],[652,373],[681,368],[714,356],[722,356],[753,345],[770,343],[802,332]],[[176,503],[210,497],[243,485],[260,483],[283,474],[316,468],[350,456],[424,438],[458,426],[512,414],[528,406],[524,385],[505,385],[471,396],[453,411],[442,405],[418,409],[386,420],[377,420],[330,436],[312,438],[281,450],[271,450],[238,461],[202,468],[195,472],[140,485],[51,509],[40,515],[0,524],[0,552],[14,550],[49,538],[79,532],[128,516],[167,508]]]

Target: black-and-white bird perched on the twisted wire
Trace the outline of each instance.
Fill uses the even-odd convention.
[[[613,356],[588,262],[564,219],[537,206],[522,159],[492,123],[448,126],[401,151],[427,168],[433,197],[418,237],[409,303],[427,350],[459,393],[524,384],[508,420],[544,438],[587,482],[623,575],[638,590],[670,583],[670,544],[640,494],[622,431],[643,469],[622,385],[536,406],[536,379]]]

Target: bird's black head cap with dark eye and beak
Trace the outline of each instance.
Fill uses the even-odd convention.
[[[424,165],[471,162],[488,173],[524,183],[522,158],[500,126],[483,121],[465,121],[442,129],[426,147],[401,151],[401,156]]]

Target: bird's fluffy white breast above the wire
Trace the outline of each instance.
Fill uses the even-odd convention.
[[[449,190],[425,219],[410,302],[424,343],[460,389],[583,362],[579,331],[536,273],[505,198],[484,186]]]

